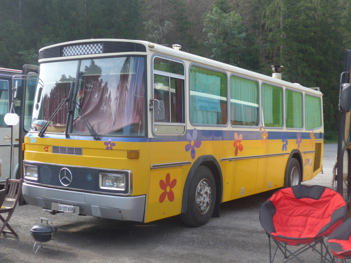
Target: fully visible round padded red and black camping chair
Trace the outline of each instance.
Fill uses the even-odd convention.
[[[283,262],[292,258],[303,262],[298,256],[309,249],[320,254],[321,262],[333,262],[324,238],[339,227],[345,213],[344,198],[327,187],[297,185],[276,191],[259,210],[261,225],[269,237],[270,263],[278,249],[284,255]],[[273,257],[271,240],[277,245]],[[300,245],[294,251],[287,247]]]

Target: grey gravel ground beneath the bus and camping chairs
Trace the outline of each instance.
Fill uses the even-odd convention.
[[[324,145],[324,173],[306,184],[331,186],[336,150],[336,144]],[[16,208],[10,221],[19,237],[0,236],[0,262],[269,262],[268,239],[259,223],[258,209],[273,192],[223,203],[221,217],[211,218],[199,228],[185,226],[179,216],[136,224],[72,214],[50,215],[41,208],[24,205]],[[33,254],[29,229],[39,217],[58,226],[54,238],[57,245],[49,241]],[[302,258],[309,263],[320,259],[313,251]]]

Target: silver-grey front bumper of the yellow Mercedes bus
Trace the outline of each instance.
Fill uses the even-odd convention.
[[[144,222],[146,195],[116,196],[38,186],[24,182],[28,204],[51,209],[52,203],[79,207],[79,214],[116,220]]]

